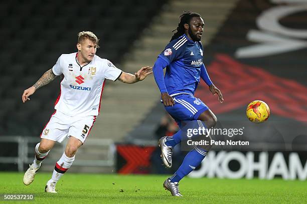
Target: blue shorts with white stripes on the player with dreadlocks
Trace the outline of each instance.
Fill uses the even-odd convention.
[[[179,94],[172,97],[175,105],[165,106],[165,109],[172,115],[179,127],[182,126],[183,121],[197,120],[202,112],[209,109],[201,99],[192,94]]]

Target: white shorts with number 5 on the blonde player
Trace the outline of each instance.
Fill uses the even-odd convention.
[[[96,117],[94,115],[69,116],[56,110],[45,125],[41,138],[62,142],[66,136],[73,136],[84,143]]]

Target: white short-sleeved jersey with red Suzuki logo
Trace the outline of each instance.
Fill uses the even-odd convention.
[[[52,71],[55,75],[64,74],[54,108],[71,116],[98,115],[105,79],[115,81],[122,73],[109,60],[97,55],[80,66],[77,52],[62,54]]]

